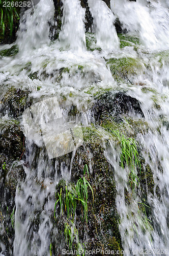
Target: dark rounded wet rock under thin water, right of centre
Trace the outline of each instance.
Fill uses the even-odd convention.
[[[123,114],[134,112],[144,117],[139,101],[125,93],[119,92],[116,95],[105,93],[96,100],[94,106],[95,119],[98,120],[102,112],[109,113],[117,121],[121,120]]]

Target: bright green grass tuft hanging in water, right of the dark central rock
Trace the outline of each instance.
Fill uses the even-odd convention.
[[[120,134],[117,130],[111,130],[112,134],[119,140],[121,147],[121,155],[120,155],[120,165],[124,168],[125,165],[130,167],[129,173],[129,183],[134,189],[135,186],[138,185],[137,181],[139,181],[138,176],[136,175],[136,168],[141,169],[139,156],[138,156],[138,143],[133,138],[126,138],[125,135]]]

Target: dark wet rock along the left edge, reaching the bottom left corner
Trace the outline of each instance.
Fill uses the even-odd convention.
[[[5,164],[5,168],[3,168]],[[19,180],[25,178],[23,166],[19,162],[8,160],[0,155],[0,250],[5,255],[13,254],[15,194]],[[3,248],[3,245],[4,248]]]

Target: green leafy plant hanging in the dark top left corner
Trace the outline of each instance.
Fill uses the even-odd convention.
[[[10,2],[10,4],[8,4]],[[1,20],[0,20],[0,30],[2,36],[4,37],[5,31],[8,29],[10,30],[10,37],[12,37],[13,32],[13,24],[14,20],[19,20],[19,15],[15,5],[13,6],[12,3],[15,1],[12,0],[0,0],[0,12],[1,12]]]

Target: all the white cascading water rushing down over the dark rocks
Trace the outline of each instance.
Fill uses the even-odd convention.
[[[78,0],[63,0],[62,30],[59,40],[51,42],[49,30],[54,5],[51,0],[41,0],[21,18],[16,41],[19,52],[0,59],[2,102],[15,87],[17,93],[27,90],[28,101],[32,104],[25,107],[22,121],[19,119],[26,144],[24,160],[20,160],[25,179],[16,187],[13,252],[0,241],[4,255],[51,255],[50,244],[55,246],[53,255],[60,255],[65,248],[60,226],[53,222],[55,188],[61,180],[69,184],[73,161],[79,165],[83,161],[83,154],[77,157],[76,152],[86,142],[84,127],[95,129],[101,136],[104,156],[114,169],[115,201],[124,254],[168,254],[169,3],[146,0],[110,2],[111,10],[101,0],[88,0],[93,27],[92,33],[86,33],[85,8]],[[122,39],[115,30],[115,17],[120,20],[122,29],[128,32]],[[139,42],[137,38],[137,44],[131,40],[135,36],[140,39]],[[9,46],[1,47],[0,54],[4,49],[9,49]],[[97,124],[93,114],[97,97],[107,92],[111,92],[111,99],[117,92],[122,92],[140,102],[142,114],[131,108],[117,122],[119,129],[135,136],[139,144],[142,174],[139,174],[139,168],[135,169],[137,185],[134,190],[129,184],[130,168],[119,165],[119,144],[105,131],[102,120]],[[114,110],[117,102],[114,101]],[[11,116],[10,106],[6,111],[3,103],[0,106],[1,123],[13,122],[15,115]],[[70,116],[72,106],[76,111]],[[103,109],[101,106],[98,112]],[[125,128],[123,124],[127,124]],[[94,176],[94,153],[88,146],[85,150],[90,174]],[[152,172],[150,176],[148,169]],[[139,183],[142,175],[147,177],[146,181],[142,180],[144,186]],[[104,207],[101,217],[95,212],[93,218],[101,221]],[[78,215],[75,215],[74,223],[81,229]],[[90,225],[83,234],[86,243],[90,241]],[[3,235],[2,224],[0,228],[0,235]],[[105,239],[107,234],[104,236],[103,233],[101,230],[98,240]],[[107,233],[110,235],[111,228]]]

